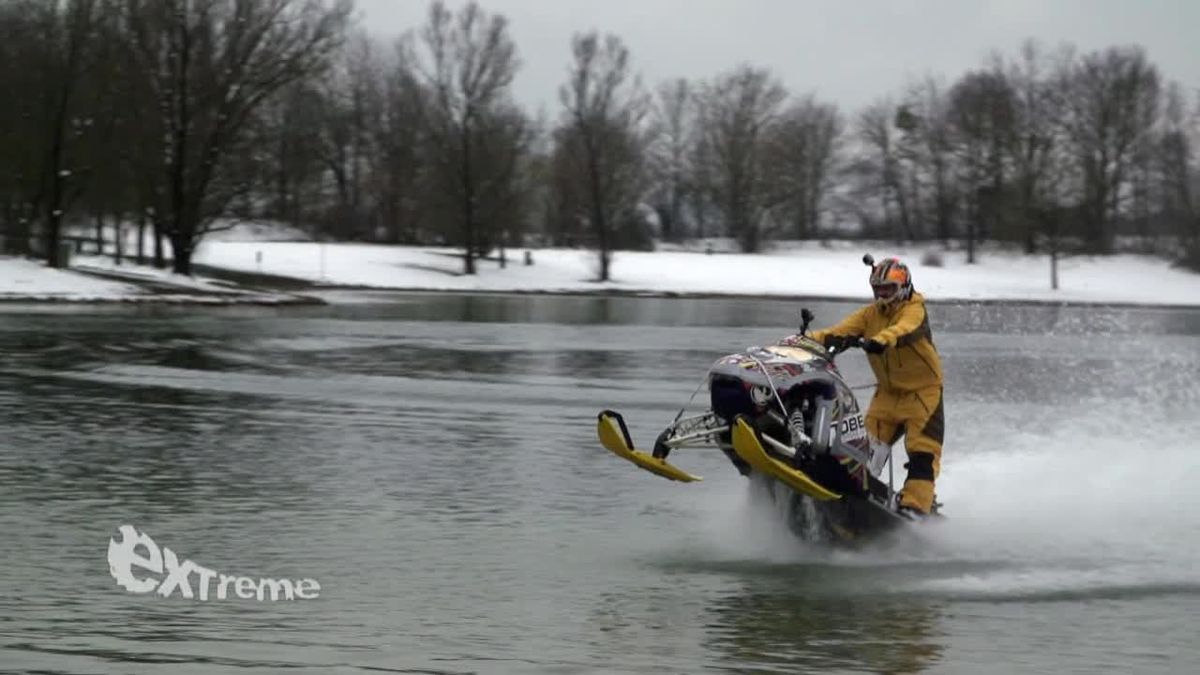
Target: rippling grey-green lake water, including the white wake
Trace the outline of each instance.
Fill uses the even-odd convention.
[[[1200,311],[935,307],[950,518],[851,552],[594,437],[649,444],[794,303],[338,299],[5,310],[0,671],[1200,669]],[[319,597],[128,593],[124,524]]]

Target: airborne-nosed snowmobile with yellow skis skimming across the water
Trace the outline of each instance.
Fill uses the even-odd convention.
[[[812,312],[804,309],[800,318],[797,335],[719,358],[696,389],[708,384],[708,410],[684,417],[689,400],[650,453],[634,447],[624,418],[611,410],[599,414],[600,443],[683,483],[702,478],[667,461],[672,450],[719,448],[742,476],[758,474],[790,489],[788,525],[806,538],[860,542],[941,516],[940,503],[928,516],[899,508],[892,447],[868,434],[854,388],[835,363],[862,341],[826,348],[806,335]]]

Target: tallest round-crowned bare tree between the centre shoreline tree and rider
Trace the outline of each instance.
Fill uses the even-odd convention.
[[[767,70],[740,66],[701,88],[700,143],[712,160],[706,190],[742,250],[762,247],[775,205],[766,144],[787,91]]]

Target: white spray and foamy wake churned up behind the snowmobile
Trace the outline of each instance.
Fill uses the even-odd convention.
[[[988,601],[1200,593],[1200,420],[1093,400],[1060,406],[1057,425],[1006,434],[983,407],[995,405],[962,416],[979,420],[962,434],[976,452],[948,446],[943,459],[943,521],[835,549],[788,528],[785,489],[773,498],[770,486],[739,480],[709,495],[694,554],[746,569],[842,568],[842,591]]]

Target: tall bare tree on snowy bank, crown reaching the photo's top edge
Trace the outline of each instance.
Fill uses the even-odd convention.
[[[452,195],[462,227],[463,271],[475,274],[482,233],[479,198],[479,127],[506,101],[518,61],[503,16],[487,14],[472,1],[452,14],[440,0],[430,6],[418,58],[431,90],[426,120],[440,160],[440,186]]]

